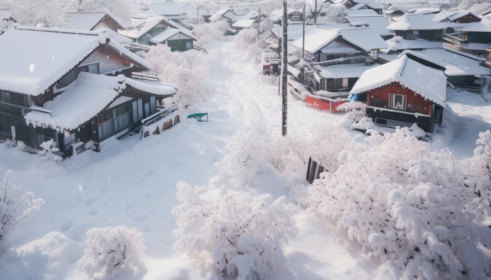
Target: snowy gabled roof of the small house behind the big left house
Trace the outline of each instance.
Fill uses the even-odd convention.
[[[180,29],[187,36],[190,36],[191,38],[196,39],[196,37],[194,37],[191,34],[191,32],[189,31],[189,29],[187,29],[186,27],[183,27],[182,25],[179,25],[178,23],[173,22],[172,20],[168,20],[167,18],[159,16],[159,15],[154,15],[154,16],[151,16],[149,18],[144,18],[144,19],[133,18],[133,27],[130,29],[126,29],[126,30],[118,30],[118,33],[123,35],[123,36],[137,39],[137,38],[140,38],[141,36],[143,36],[148,31],[150,31],[150,29],[156,27],[157,25],[159,25],[161,23],[163,23],[163,25],[166,25],[168,27]]]

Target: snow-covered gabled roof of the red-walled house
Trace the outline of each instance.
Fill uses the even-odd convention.
[[[351,93],[368,92],[391,83],[399,83],[431,102],[446,106],[447,77],[443,73],[408,59],[406,55],[365,71],[356,81]]]

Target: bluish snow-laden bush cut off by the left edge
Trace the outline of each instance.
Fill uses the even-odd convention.
[[[12,183],[12,172],[8,170],[0,184],[0,240],[15,230],[15,225],[34,217],[34,211],[39,211],[44,204],[40,198],[34,199],[34,193],[18,195],[19,190],[20,187]]]

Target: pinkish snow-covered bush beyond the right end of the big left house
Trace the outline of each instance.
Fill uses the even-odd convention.
[[[149,74],[179,87],[173,99],[180,108],[205,102],[213,96],[213,89],[204,84],[210,73],[205,53],[198,50],[171,52],[168,46],[159,44],[150,48],[144,58],[154,67]]]

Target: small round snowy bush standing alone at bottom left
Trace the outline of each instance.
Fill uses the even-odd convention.
[[[92,228],[87,232],[86,246],[85,255],[76,264],[90,277],[137,272],[142,265],[143,237],[134,228]]]

